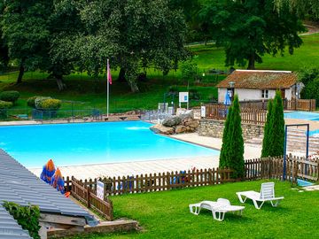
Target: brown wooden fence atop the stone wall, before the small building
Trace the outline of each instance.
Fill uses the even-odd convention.
[[[229,106],[222,104],[205,104],[206,119],[226,120]],[[243,123],[263,125],[266,122],[267,111],[257,108],[241,108],[241,119]]]

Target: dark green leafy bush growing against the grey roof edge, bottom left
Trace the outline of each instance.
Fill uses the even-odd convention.
[[[15,203],[4,202],[4,208],[33,238],[40,239],[40,209],[37,205],[29,204],[27,206],[21,206]]]

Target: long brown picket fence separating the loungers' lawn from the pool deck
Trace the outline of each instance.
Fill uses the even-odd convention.
[[[256,158],[245,160],[244,180],[277,179],[284,180],[284,158]],[[126,193],[143,193],[170,189],[200,187],[236,181],[231,178],[230,169],[205,169],[171,173],[150,173],[126,177],[99,178],[95,180],[70,181],[66,177],[66,189],[73,197],[93,208],[106,219],[113,220],[113,204],[109,196]],[[285,180],[295,182],[298,178],[318,181],[319,158],[305,159],[286,157]],[[97,198],[97,181],[105,183],[105,200]]]

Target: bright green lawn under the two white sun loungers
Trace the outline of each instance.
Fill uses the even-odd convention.
[[[277,208],[261,210],[245,204],[243,217],[227,213],[222,222],[211,212],[195,216],[188,205],[202,200],[230,199],[240,204],[236,192],[260,190],[262,181],[245,181],[193,189],[112,197],[115,218],[137,220],[142,232],[119,235],[84,235],[73,238],[319,238],[319,191],[298,192],[289,182],[276,181]]]

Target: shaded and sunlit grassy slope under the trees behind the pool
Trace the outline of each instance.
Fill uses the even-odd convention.
[[[258,69],[274,70],[299,70],[303,66],[319,67],[319,35],[307,35],[302,37],[304,44],[300,49],[295,50],[294,55],[285,54],[283,57],[265,56],[264,63],[257,64]],[[197,54],[195,61],[198,63],[199,73],[208,69],[216,68],[225,70],[224,51],[222,48],[215,48],[214,45],[192,46],[190,49]],[[16,89],[21,93],[18,104],[15,108],[25,108],[26,100],[29,96],[53,96],[65,101],[77,101],[74,109],[97,107],[105,109],[105,77],[97,80],[89,78],[85,73],[74,73],[66,77],[67,89],[58,91],[55,81],[46,79],[46,73],[26,73],[24,81],[19,86],[14,85],[18,73],[0,75],[0,90]],[[114,81],[111,87],[111,112],[125,112],[133,109],[153,109],[159,102],[163,101],[163,94],[167,92],[170,85],[179,85],[181,90],[185,90],[186,83],[181,81],[181,73],[171,72],[163,77],[158,71],[149,70],[149,81],[141,86],[142,92],[138,94],[130,93],[126,83]],[[116,72],[113,72],[113,79],[116,79]],[[200,91],[203,99],[217,97],[217,89],[214,84],[217,82],[215,76],[204,77],[204,85],[193,86]],[[171,101],[172,99],[167,99]],[[177,103],[177,99],[175,99]],[[197,103],[198,104],[198,103]],[[71,104],[63,104],[62,109],[70,109]]]

